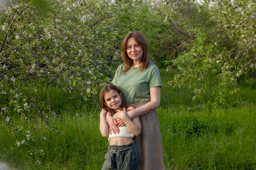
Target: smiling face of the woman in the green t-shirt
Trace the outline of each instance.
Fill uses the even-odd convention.
[[[135,41],[134,38],[129,38],[127,40],[126,52],[128,57],[136,62],[140,61],[143,55],[142,47]]]

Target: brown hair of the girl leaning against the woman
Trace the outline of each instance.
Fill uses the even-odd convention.
[[[112,83],[105,85],[102,90],[100,91],[99,94],[99,102],[101,107],[105,110],[105,111],[109,111],[111,113],[111,115],[113,115],[115,113],[115,110],[108,108],[108,106],[105,104],[105,99],[104,96],[106,93],[110,92],[111,90],[116,91],[118,94],[122,94],[122,92],[120,91],[120,89],[116,86],[113,85]],[[126,107],[125,105],[125,100],[124,100],[124,95],[121,96],[121,105],[120,108],[123,109],[124,107]]]

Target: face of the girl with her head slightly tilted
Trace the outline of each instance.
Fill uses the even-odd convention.
[[[105,105],[110,108],[117,110],[122,104],[122,93],[118,94],[116,91],[111,90],[104,95]]]

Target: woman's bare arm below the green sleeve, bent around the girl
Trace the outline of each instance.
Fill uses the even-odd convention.
[[[140,116],[142,114],[148,113],[156,108],[159,107],[160,105],[160,96],[161,96],[161,90],[160,86],[149,88],[150,91],[150,102],[147,104],[136,108],[132,111],[127,112],[127,116],[130,119],[133,119],[134,117]],[[126,123],[125,123],[126,124]]]

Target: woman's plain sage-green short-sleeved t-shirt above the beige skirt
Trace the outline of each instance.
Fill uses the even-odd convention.
[[[160,86],[159,69],[152,62],[148,62],[148,68],[140,71],[140,67],[131,67],[125,74],[123,74],[124,65],[119,65],[113,84],[122,91],[125,103],[137,103],[150,101],[149,88]]]

